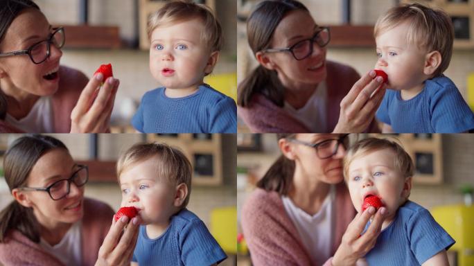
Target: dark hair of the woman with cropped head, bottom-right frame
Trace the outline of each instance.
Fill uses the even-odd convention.
[[[277,134],[277,139],[292,138],[295,134]],[[283,154],[265,172],[256,186],[267,191],[277,191],[280,195],[288,195],[295,174],[295,161],[286,158]]]

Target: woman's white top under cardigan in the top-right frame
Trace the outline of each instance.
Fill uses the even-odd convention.
[[[289,103],[285,102],[283,109],[306,125],[311,132],[328,132],[326,128],[327,90],[326,80],[324,80],[319,83],[304,107],[295,109]]]

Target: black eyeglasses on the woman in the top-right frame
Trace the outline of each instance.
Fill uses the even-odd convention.
[[[313,44],[317,43],[319,47],[324,47],[329,43],[331,35],[329,28],[321,27],[310,39],[304,39],[302,41],[293,44],[289,48],[268,48],[265,49],[264,53],[277,53],[277,52],[290,52],[296,60],[304,60],[306,57],[313,53]]]

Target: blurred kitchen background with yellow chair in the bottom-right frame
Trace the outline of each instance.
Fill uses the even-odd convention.
[[[400,141],[415,162],[410,200],[428,209],[456,240],[448,251],[450,265],[474,265],[474,135],[351,134],[351,143],[367,136]],[[237,134],[238,265],[250,265],[240,210],[280,154],[276,134]]]

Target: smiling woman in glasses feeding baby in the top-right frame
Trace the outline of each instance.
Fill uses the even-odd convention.
[[[378,131],[374,114],[385,86],[370,96],[382,80],[372,80],[374,71],[360,78],[351,67],[326,60],[329,29],[318,26],[302,3],[259,3],[247,37],[260,65],[238,86],[237,112],[250,130]]]

